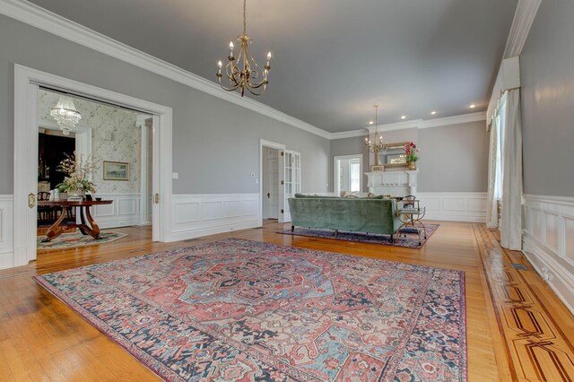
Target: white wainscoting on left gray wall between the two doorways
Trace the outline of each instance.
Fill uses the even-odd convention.
[[[261,226],[258,194],[173,195],[172,239]]]

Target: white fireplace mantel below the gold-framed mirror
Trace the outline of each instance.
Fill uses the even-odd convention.
[[[369,192],[376,195],[416,195],[416,177],[419,170],[365,172]]]

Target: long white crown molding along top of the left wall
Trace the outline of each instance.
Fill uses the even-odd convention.
[[[256,111],[266,117],[272,117],[288,125],[300,128],[314,135],[329,138],[331,133],[309,125],[298,118],[291,117],[279,110],[270,108],[257,100],[242,98],[239,94],[222,90],[215,82],[208,81],[197,74],[187,72],[176,65],[167,63],[159,58],[131,48],[126,44],[109,39],[94,30],[84,27],[76,22],[65,19],[56,13],[30,4],[23,0],[0,0],[0,13],[20,22],[25,22],[40,30],[46,30],[61,38],[68,39],[86,48],[91,48],[108,56],[115,57],[128,64],[141,67],[155,74],[160,74],[170,80],[183,83],[198,91],[222,100],[227,100],[243,108]]]

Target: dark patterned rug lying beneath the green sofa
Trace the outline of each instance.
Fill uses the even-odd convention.
[[[427,240],[431,238],[431,235],[439,228],[439,224],[427,223],[424,225],[427,229]],[[419,235],[413,230],[404,230],[397,238],[396,235],[393,237],[395,241],[391,242],[390,235],[380,235],[377,233],[361,233],[361,232],[349,232],[346,230],[339,230],[339,235],[335,238],[335,230],[321,230],[313,228],[300,228],[295,227],[295,231],[291,232],[289,230],[281,230],[277,233],[283,233],[283,235],[295,235],[295,236],[307,236],[309,238],[321,238],[321,239],[335,239],[344,241],[357,241],[359,243],[369,243],[369,244],[383,244],[385,246],[394,247],[405,247],[405,248],[421,248],[427,240],[422,237],[422,243],[419,245]]]

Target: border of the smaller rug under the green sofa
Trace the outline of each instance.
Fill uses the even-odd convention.
[[[304,227],[295,227],[295,231],[291,232],[291,229],[288,230],[278,230],[276,231],[276,233],[281,233],[282,235],[291,235],[291,236],[301,236],[304,238],[316,238],[316,239],[333,239],[333,240],[339,240],[339,241],[347,241],[347,242],[352,242],[352,243],[366,243],[366,244],[377,244],[377,245],[381,245],[381,246],[387,246],[387,247],[400,247],[400,248],[412,248],[412,249],[421,249],[426,243],[427,241],[429,241],[429,239],[431,239],[431,236],[437,231],[439,230],[440,224],[434,224],[434,223],[427,223],[425,224],[425,227],[427,229],[427,239],[422,239],[422,244],[418,245],[417,240],[417,236],[415,236],[416,234],[409,232],[407,233],[408,235],[411,235],[412,238],[407,238],[410,242],[413,241],[417,244],[415,245],[408,245],[408,244],[404,244],[401,245],[401,239],[398,239],[397,242],[395,243],[390,243],[390,236],[389,235],[382,235],[382,234],[368,234],[368,233],[362,233],[362,232],[351,232],[351,231],[346,231],[346,230],[340,230],[339,231],[339,236],[335,237],[335,230],[326,230],[326,229],[308,229],[308,228],[304,228]],[[299,230],[299,232],[298,232]],[[330,235],[314,235],[311,232],[307,232],[309,230],[314,230],[314,231],[319,231],[321,233],[329,233]],[[345,235],[349,236],[351,235],[356,236],[357,239],[348,239],[345,237]],[[364,239],[362,239],[361,237],[363,237]]]

